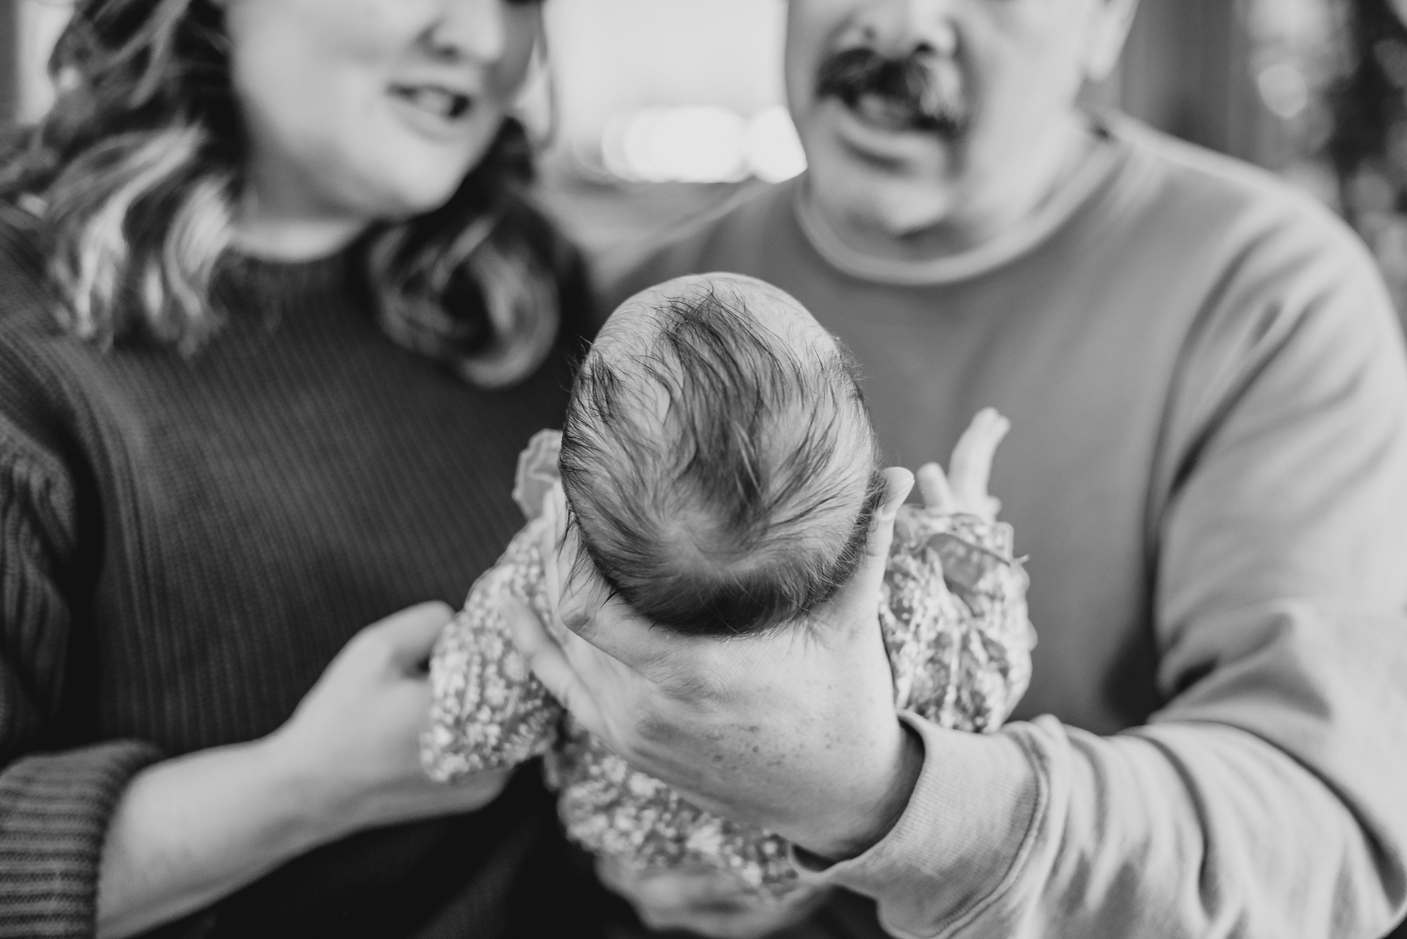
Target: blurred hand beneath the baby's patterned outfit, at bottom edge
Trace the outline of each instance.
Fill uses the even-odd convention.
[[[805,919],[827,894],[801,894],[787,902],[758,902],[757,894],[722,870],[636,871],[599,860],[601,883],[630,901],[650,929],[682,929],[708,939],[764,939]]]

